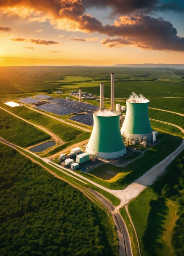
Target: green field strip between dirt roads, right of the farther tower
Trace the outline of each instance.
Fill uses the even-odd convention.
[[[149,113],[149,118],[153,118],[155,120],[159,121],[164,121],[168,122],[171,124],[178,125],[182,128],[184,128],[184,122],[183,122],[183,117],[179,116],[177,114],[169,113],[169,112],[164,112],[161,110],[155,110],[155,109],[148,109]]]

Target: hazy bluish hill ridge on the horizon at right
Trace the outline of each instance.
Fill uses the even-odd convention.
[[[184,64],[116,64],[113,67],[122,67],[122,68],[175,68],[175,69],[184,69]]]

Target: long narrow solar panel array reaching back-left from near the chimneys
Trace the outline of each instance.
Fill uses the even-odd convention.
[[[61,104],[73,106],[76,108],[82,108],[83,110],[87,110],[87,111],[95,111],[97,108],[99,108],[98,106],[95,106],[92,104],[87,104],[84,102],[77,102],[77,101],[72,101],[72,100],[67,100],[62,98],[50,99],[49,102],[61,103]]]

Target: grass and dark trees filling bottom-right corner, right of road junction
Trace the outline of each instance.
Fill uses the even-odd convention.
[[[129,203],[141,255],[183,255],[183,166],[182,152],[157,182]]]

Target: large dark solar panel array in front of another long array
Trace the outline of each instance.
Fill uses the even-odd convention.
[[[74,108],[72,106],[66,106],[63,104],[52,104],[52,103],[40,105],[40,106],[37,106],[36,108],[59,115],[59,116],[69,115],[72,113],[79,113],[83,111],[80,108]]]

